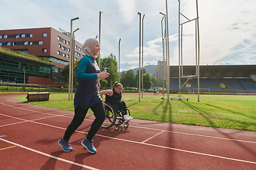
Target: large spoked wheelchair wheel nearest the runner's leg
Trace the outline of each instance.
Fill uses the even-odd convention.
[[[105,120],[102,123],[102,128],[111,128],[114,125],[116,118],[117,115],[115,114],[114,108],[107,104],[105,106]]]

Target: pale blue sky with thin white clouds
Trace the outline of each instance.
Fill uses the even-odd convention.
[[[9,0],[1,1],[0,30],[52,27],[70,31],[83,43],[99,33],[102,13],[101,55],[118,59],[120,71],[139,67],[139,15],[144,18],[144,66],[162,60],[161,18],[165,0]],[[170,65],[178,64],[178,1],[168,0]],[[198,0],[201,64],[256,64],[256,1]],[[196,0],[181,0],[181,13],[196,18]],[[185,21],[184,19],[182,21]],[[181,21],[181,22],[182,22]],[[195,64],[195,26],[183,32],[183,64]]]

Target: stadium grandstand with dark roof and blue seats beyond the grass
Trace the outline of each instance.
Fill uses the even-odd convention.
[[[170,66],[170,91],[178,92],[178,66]],[[163,77],[163,64],[158,62],[156,75]],[[196,66],[183,66],[183,76],[196,75]],[[256,65],[201,65],[199,69],[202,93],[256,94]],[[186,79],[181,79],[181,86]],[[198,91],[198,79],[187,81],[181,91]]]

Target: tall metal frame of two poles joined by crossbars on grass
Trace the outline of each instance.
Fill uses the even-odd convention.
[[[192,20],[188,19],[181,13],[181,2],[178,0],[178,100],[187,99],[181,98],[181,89],[192,77],[198,77],[198,101],[199,101],[199,59],[200,59],[200,43],[199,43],[199,17],[198,17],[198,0],[196,0],[196,18]],[[181,23],[181,16],[186,18],[188,21]],[[183,54],[182,54],[182,34],[183,34],[183,25],[195,21],[196,23],[196,75],[183,75]],[[185,83],[181,86],[181,79],[186,79]],[[174,99],[174,98],[172,98]]]

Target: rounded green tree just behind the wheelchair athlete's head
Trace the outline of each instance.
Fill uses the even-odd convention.
[[[126,73],[122,72],[122,79],[120,80],[123,86],[136,86],[136,76],[132,69],[129,69]]]

